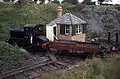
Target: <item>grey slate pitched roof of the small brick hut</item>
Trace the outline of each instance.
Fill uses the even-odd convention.
[[[85,24],[86,21],[76,17],[71,13],[66,13],[65,15],[53,20],[47,26],[52,26],[54,24]]]

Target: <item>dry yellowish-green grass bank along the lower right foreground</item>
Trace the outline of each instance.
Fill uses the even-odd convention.
[[[50,72],[40,79],[119,79],[120,55],[80,61],[67,69]]]

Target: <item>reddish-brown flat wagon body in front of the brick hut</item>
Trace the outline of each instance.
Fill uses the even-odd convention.
[[[99,43],[87,43],[69,40],[57,40],[51,45],[53,49],[57,50],[72,50],[72,51],[83,51],[83,52],[99,52]]]

